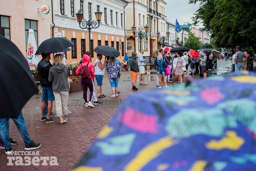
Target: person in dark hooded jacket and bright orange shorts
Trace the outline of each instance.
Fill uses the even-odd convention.
[[[136,62],[137,54],[135,52],[132,52],[132,58],[130,59],[129,66],[130,66],[130,74],[132,77],[132,90],[137,91],[138,88],[136,88],[136,81],[138,77],[139,72],[139,66]]]

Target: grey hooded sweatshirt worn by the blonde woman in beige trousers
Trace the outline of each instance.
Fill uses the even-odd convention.
[[[52,91],[69,91],[68,76],[69,72],[67,65],[53,65],[49,70],[48,77],[48,81],[52,82]]]

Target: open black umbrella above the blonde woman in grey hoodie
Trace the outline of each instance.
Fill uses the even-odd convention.
[[[36,51],[37,54],[41,53],[57,53],[65,52],[68,47],[74,46],[73,42],[65,37],[52,37],[43,41]]]

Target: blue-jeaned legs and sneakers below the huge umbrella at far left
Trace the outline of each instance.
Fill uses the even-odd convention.
[[[22,136],[24,143],[25,143],[25,150],[34,150],[38,149],[41,144],[35,143],[33,140],[30,139],[28,135],[27,125],[25,123],[22,111],[20,111],[18,118],[12,118],[16,127],[19,130],[20,135]],[[5,154],[10,155],[12,152],[11,142],[10,142],[10,135],[9,135],[9,119],[1,118],[0,119],[0,136],[1,141],[5,148]]]

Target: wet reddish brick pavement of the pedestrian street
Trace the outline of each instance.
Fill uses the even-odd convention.
[[[209,71],[209,76],[215,76],[228,73],[230,70],[231,61],[218,61],[218,68]],[[111,120],[111,117],[118,109],[119,105],[125,100],[126,96],[131,93],[138,93],[142,90],[149,90],[156,88],[156,76],[152,74],[155,70],[146,70],[146,82],[149,85],[138,85],[139,90],[133,92],[131,90],[132,83],[130,72],[121,72],[119,80],[119,90],[121,93],[118,97],[111,98],[111,88],[108,81],[107,74],[103,80],[103,94],[105,98],[99,98],[104,102],[104,105],[95,105],[95,108],[85,108],[83,104],[82,92],[70,93],[68,110],[72,111],[68,115],[68,123],[64,125],[59,124],[58,118],[54,123],[45,123],[40,121],[40,103],[41,96],[35,95],[31,98],[23,108],[23,115],[28,127],[29,135],[35,142],[41,143],[41,147],[34,151],[39,151],[40,156],[56,156],[58,166],[7,166],[7,155],[4,150],[0,150],[0,170],[70,170],[80,160],[82,155],[88,150],[90,145],[94,142],[96,135],[101,128]],[[152,72],[152,73],[150,73]],[[193,79],[199,79],[198,75],[188,76]],[[96,81],[95,81],[96,84]],[[173,85],[168,83],[168,85]],[[55,112],[55,103],[53,107]],[[12,145],[14,151],[23,151],[24,142],[12,120],[10,120],[10,137],[18,141],[19,144]],[[33,157],[33,156],[30,156]],[[24,160],[24,156],[23,156]],[[48,162],[49,163],[49,162]]]

